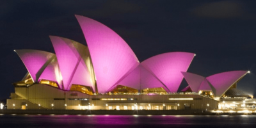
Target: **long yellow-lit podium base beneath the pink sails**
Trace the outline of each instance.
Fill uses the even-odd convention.
[[[105,93],[88,95],[45,84],[15,87],[8,109],[179,110],[218,109],[218,101],[198,93]]]

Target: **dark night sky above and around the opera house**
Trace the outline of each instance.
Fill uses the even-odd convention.
[[[54,52],[49,35],[86,45],[75,14],[124,38],[140,61],[164,52],[196,54],[188,72],[250,70],[239,89],[256,95],[256,1],[0,1],[0,99],[27,70],[14,49]],[[182,81],[180,89],[188,84]]]

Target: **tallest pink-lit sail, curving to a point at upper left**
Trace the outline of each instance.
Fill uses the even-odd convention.
[[[99,93],[108,92],[139,61],[126,42],[104,24],[76,15],[92,57]]]

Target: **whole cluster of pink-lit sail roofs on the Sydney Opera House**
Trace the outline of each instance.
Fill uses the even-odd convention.
[[[73,40],[50,36],[55,54],[37,50],[14,50],[34,82],[55,81],[61,90],[72,84],[90,86],[96,92],[108,93],[118,85],[137,90],[164,88],[177,92],[183,77],[184,90],[212,91],[220,97],[232,84],[250,71],[230,71],[203,77],[186,72],[195,54],[167,52],[139,62],[131,47],[104,24],[76,15],[88,47]]]

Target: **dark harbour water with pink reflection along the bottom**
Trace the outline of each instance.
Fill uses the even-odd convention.
[[[256,115],[1,115],[0,127],[253,127]]]

